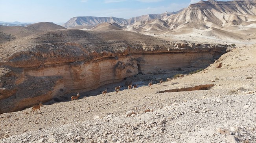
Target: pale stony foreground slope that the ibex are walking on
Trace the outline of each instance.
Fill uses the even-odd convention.
[[[147,78],[153,76],[164,75]],[[214,86],[186,91],[207,84]],[[185,91],[167,92],[180,88]],[[80,95],[43,105],[35,115],[31,108],[0,114],[0,142],[256,143],[256,45],[234,48],[203,71],[151,88]]]

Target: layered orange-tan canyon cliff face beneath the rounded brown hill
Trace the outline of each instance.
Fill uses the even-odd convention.
[[[127,46],[118,52],[99,52],[81,50],[77,44],[57,45],[61,48],[36,47],[39,50],[13,54],[0,63],[0,114],[68,93],[90,91],[138,73],[203,68],[214,63],[227,49],[227,45],[151,50]],[[67,46],[74,51],[64,51]]]

